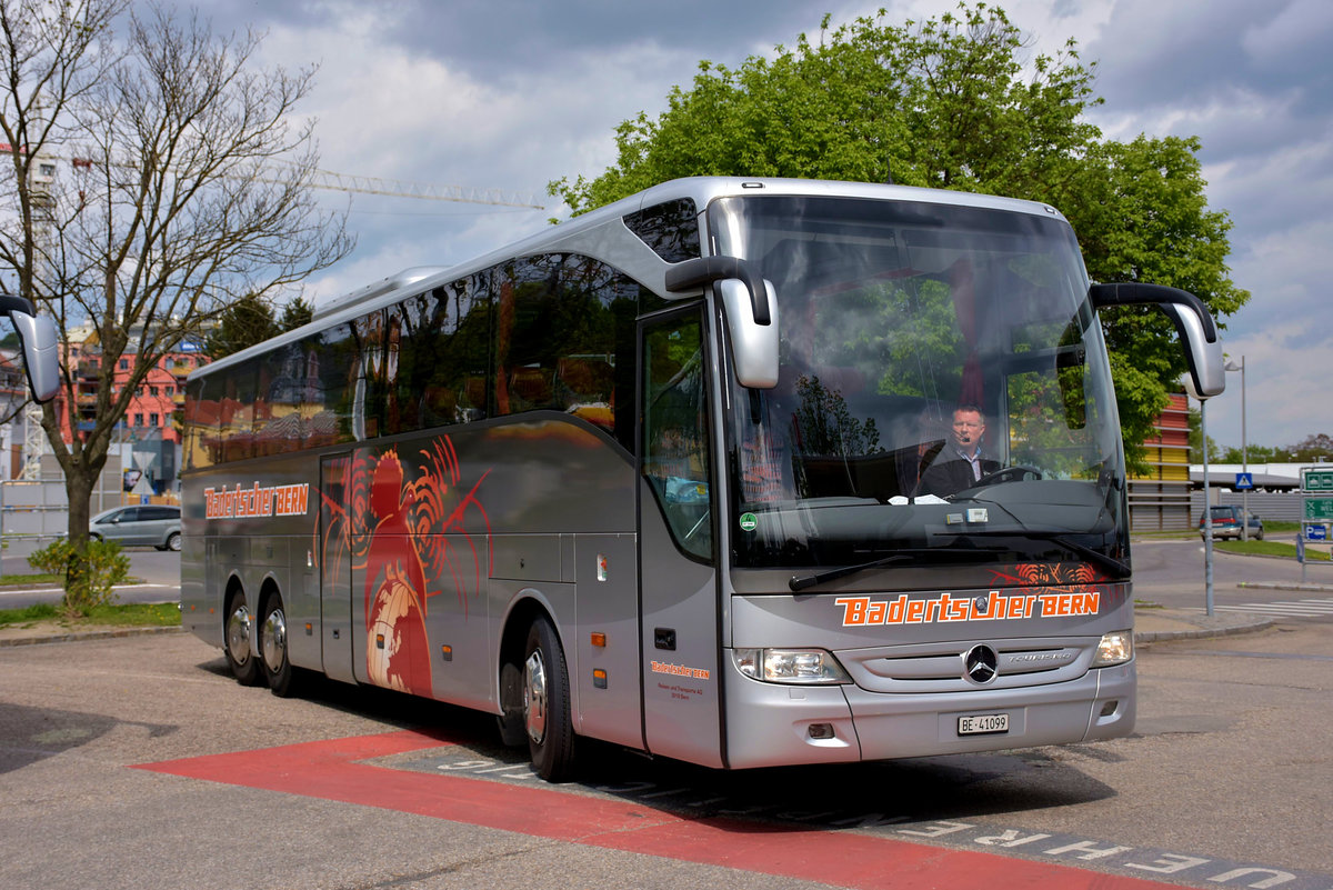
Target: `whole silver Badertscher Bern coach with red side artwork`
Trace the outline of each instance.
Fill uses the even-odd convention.
[[[1221,392],[1204,304],[1090,284],[1050,207],[666,183],[192,374],[184,622],[280,695],[491,711],[551,779],[581,738],[740,769],[1124,735],[1124,302]]]

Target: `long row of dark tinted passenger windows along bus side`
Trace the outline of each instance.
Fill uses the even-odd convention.
[[[187,465],[532,410],[632,450],[635,322],[665,305],[588,257],[513,260],[196,381]]]

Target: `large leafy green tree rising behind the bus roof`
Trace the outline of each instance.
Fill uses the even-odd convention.
[[[681,176],[792,176],[897,183],[1045,201],[1060,208],[1098,281],[1188,289],[1214,314],[1249,297],[1229,278],[1230,220],[1208,208],[1197,139],[1104,141],[1084,113],[1096,63],[1077,44],[1029,59],[1000,8],[960,4],[894,25],[886,13],[797,37],[730,69],[700,64],[659,117],[616,131],[617,160],[551,183],[583,213]],[[1165,316],[1102,314],[1129,464],[1185,370]]]

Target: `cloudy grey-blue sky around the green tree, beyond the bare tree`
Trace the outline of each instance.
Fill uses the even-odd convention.
[[[1333,433],[1333,3],[1000,0],[1033,52],[1078,41],[1097,61],[1092,120],[1106,137],[1198,136],[1232,276],[1253,294],[1229,322],[1246,361],[1249,440]],[[333,298],[413,265],[449,265],[545,225],[548,181],[599,175],[615,127],[656,116],[698,61],[737,65],[886,7],[934,16],[953,0],[201,0],[215,31],[267,32],[265,64],[319,64],[301,111],[321,165],[348,176],[495,191],[545,211],[331,192],[356,252],[311,281]],[[1209,433],[1241,442],[1240,376],[1209,402]]]

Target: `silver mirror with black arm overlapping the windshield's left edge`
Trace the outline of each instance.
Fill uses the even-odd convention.
[[[758,270],[737,257],[701,257],[666,270],[666,289],[692,290],[706,284],[726,313],[736,380],[749,389],[777,385],[777,294]]]

